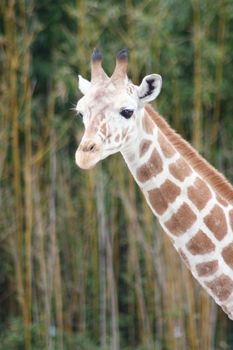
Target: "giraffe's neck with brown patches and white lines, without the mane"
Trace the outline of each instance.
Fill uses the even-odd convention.
[[[233,206],[193,168],[146,111],[122,155],[194,277],[233,319]]]

